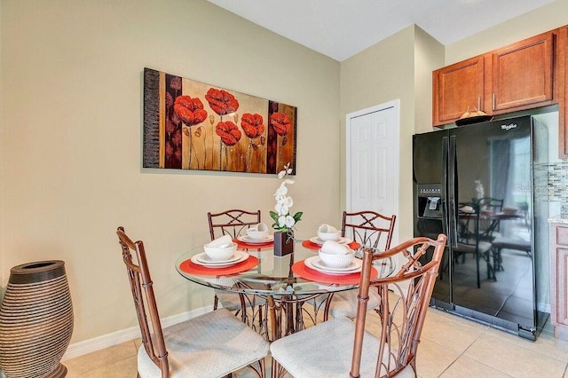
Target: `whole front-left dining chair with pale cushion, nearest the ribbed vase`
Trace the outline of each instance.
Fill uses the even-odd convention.
[[[144,244],[122,226],[116,234],[142,334],[138,377],[220,377],[246,366],[264,377],[268,343],[226,309],[162,328]]]

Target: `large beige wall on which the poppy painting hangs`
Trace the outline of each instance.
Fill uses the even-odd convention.
[[[299,237],[339,222],[339,63],[204,0],[2,0],[1,285],[62,259],[72,343],[136,325],[115,230],[146,243],[162,316],[212,303],[174,262],[207,212],[273,206],[276,177],[141,169],[144,67],[298,108]]]

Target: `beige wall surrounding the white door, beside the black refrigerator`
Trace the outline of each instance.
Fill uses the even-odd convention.
[[[342,206],[345,206],[345,116],[400,99],[398,240],[412,238],[412,135],[431,128],[431,75],[444,48],[421,28],[391,35],[341,64]],[[394,158],[393,158],[394,161]]]

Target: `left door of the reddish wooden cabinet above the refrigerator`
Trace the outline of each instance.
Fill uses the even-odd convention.
[[[454,122],[468,108],[483,110],[484,67],[484,57],[479,56],[433,72],[434,125]]]

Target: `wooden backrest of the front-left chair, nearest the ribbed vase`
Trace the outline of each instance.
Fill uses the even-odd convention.
[[[162,377],[169,377],[168,350],[166,350],[163,339],[162,324],[158,314],[158,307],[156,306],[152,278],[146,262],[144,243],[139,240],[136,242],[130,240],[122,226],[118,227],[116,234],[122,247],[122,261],[126,265],[126,272],[128,272],[130,280],[132,298],[134,299],[138,325],[142,334],[142,343],[148,357],[162,371]],[[136,261],[132,259],[131,251],[135,252]],[[148,319],[150,323],[148,323]],[[150,329],[150,324],[152,329]]]

